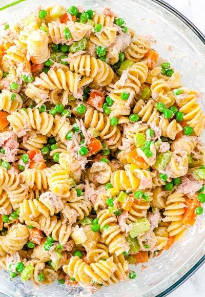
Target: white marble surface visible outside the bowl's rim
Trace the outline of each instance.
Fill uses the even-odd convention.
[[[164,0],[169,3],[205,34],[205,1],[204,0]],[[174,290],[169,297],[204,297],[205,296],[205,264],[202,265],[185,283]]]

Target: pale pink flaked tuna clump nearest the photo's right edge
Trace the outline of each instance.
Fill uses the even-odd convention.
[[[202,187],[202,180],[195,180],[191,174],[187,174],[181,178],[181,183],[178,186],[178,191],[183,194],[194,195]]]

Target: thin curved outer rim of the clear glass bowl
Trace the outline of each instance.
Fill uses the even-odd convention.
[[[150,0],[150,1],[158,4],[159,6],[162,6],[162,7],[166,8],[171,13],[173,13],[174,15],[176,15],[183,23],[185,23],[197,35],[197,37],[200,38],[200,40],[202,41],[202,43],[205,45],[205,36],[203,35],[203,33],[185,15],[183,15],[182,13],[180,13],[177,9],[175,9],[173,6],[169,5],[168,3],[164,2],[163,0]],[[18,3],[16,3],[16,5],[17,4]],[[157,294],[156,297],[165,297],[169,293],[173,292],[181,284],[183,284],[185,281],[187,281],[192,276],[192,274],[194,272],[196,272],[197,269],[199,269],[204,263],[205,263],[205,254],[204,254],[204,256],[187,273],[185,273],[185,275],[183,275],[183,277],[181,277],[177,282],[175,282],[168,289],[164,290],[160,294]],[[6,296],[6,295],[5,294],[2,294],[2,296]]]

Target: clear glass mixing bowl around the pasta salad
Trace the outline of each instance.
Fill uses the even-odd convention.
[[[12,1],[1,0],[1,7]],[[139,34],[152,35],[153,47],[161,57],[168,59],[181,74],[184,86],[204,91],[205,39],[202,33],[171,6],[160,0],[79,0],[88,9],[111,7],[128,26]],[[39,5],[44,7],[60,3],[66,7],[76,3],[68,0],[26,0],[15,6],[0,9],[3,22],[16,22]],[[201,100],[203,110],[205,104]],[[93,297],[152,297],[165,296],[189,278],[205,261],[205,216],[199,216],[180,242],[163,251],[143,266],[131,267],[137,277],[115,286],[103,287]],[[10,281],[4,271],[0,273],[1,296],[91,296],[91,293],[54,283],[50,286],[34,286],[14,279]]]

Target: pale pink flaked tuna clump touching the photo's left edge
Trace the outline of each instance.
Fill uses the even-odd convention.
[[[0,145],[5,150],[7,161],[14,162],[16,160],[15,155],[19,146],[16,134],[12,131],[0,133]]]

